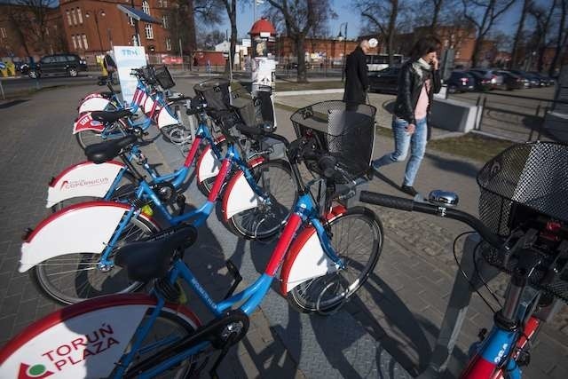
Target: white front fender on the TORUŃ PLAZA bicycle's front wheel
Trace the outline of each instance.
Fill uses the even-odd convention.
[[[342,206],[337,206],[327,215],[327,220],[331,221],[335,217],[341,216],[345,211],[346,209]],[[288,250],[280,272],[280,293],[286,295],[305,280],[335,272],[338,268],[327,257],[326,252],[321,247],[318,233],[310,225],[296,236],[294,243]]]

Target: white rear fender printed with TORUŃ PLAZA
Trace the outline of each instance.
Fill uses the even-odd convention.
[[[3,378],[102,378],[114,370],[146,312],[150,296],[101,296],[36,321],[0,351]],[[197,328],[189,311],[166,306]]]

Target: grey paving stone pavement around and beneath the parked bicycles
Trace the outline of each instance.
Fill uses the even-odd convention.
[[[182,88],[191,84],[180,82]],[[4,196],[0,209],[6,220],[0,233],[1,344],[56,308],[37,294],[28,275],[16,271],[20,235],[47,214],[43,205],[51,175],[83,160],[70,129],[76,99],[91,89],[97,87],[40,92],[26,103],[0,110],[4,120],[4,148],[0,151],[0,174],[4,178],[0,191]],[[317,101],[306,98],[304,105]],[[290,138],[289,113],[278,110],[277,117],[279,131]],[[176,167],[181,154],[171,146],[157,145],[160,151],[154,151],[152,157],[159,159],[162,154],[171,167]],[[391,145],[390,138],[377,138],[375,154],[390,151]],[[479,166],[429,152],[417,187],[424,192],[438,187],[456,190],[461,195],[461,209],[476,212],[474,178]],[[399,184],[403,170],[402,164],[385,168],[383,180],[375,180],[371,189],[400,194],[394,186]],[[194,189],[190,188],[189,194],[190,201],[202,200]],[[290,310],[285,300],[271,291],[262,311],[252,316],[247,338],[233,349],[222,367],[223,376],[405,377],[406,372],[416,375],[422,371],[430,358],[454,280],[451,244],[465,228],[422,215],[378,207],[375,211],[383,220],[385,246],[377,269],[359,296],[343,311],[323,318]],[[222,294],[229,281],[223,268],[225,257],[237,263],[245,279],[253,278],[263,270],[271,247],[238,241],[212,216],[200,229],[191,256],[200,257],[200,274],[206,288],[210,286]],[[192,257],[187,260],[192,262]],[[497,288],[502,291],[502,286]],[[478,328],[490,325],[490,321],[485,304],[474,296],[454,352],[456,362],[463,363],[464,351],[475,340]],[[532,364],[525,370],[527,377],[568,377],[567,325],[564,308],[555,322],[543,328],[533,348]]]

